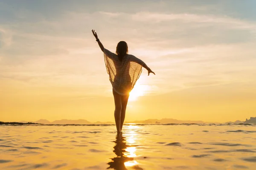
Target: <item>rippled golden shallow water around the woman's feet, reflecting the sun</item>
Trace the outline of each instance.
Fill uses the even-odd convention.
[[[256,124],[2,125],[0,169],[256,170]]]

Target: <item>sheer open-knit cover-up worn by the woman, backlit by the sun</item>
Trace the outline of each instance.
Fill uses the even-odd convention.
[[[127,95],[134,88],[137,79],[142,72],[142,66],[145,64],[141,59],[126,54],[122,62],[118,56],[104,48],[104,59],[109,80],[113,90],[120,95]]]

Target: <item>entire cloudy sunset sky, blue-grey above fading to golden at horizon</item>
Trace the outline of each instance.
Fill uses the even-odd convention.
[[[255,0],[2,0],[0,121],[114,122],[103,53],[143,68],[126,121],[256,116]]]

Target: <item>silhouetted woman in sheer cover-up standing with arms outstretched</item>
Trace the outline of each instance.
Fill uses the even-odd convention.
[[[121,133],[129,93],[134,88],[137,79],[139,79],[142,67],[148,70],[148,76],[150,73],[154,74],[154,72],[151,71],[145,62],[128,54],[128,46],[125,41],[120,41],[117,44],[116,54],[114,54],[104,48],[95,30],[92,30],[92,32],[100,49],[104,53],[105,65],[113,87],[116,130],[117,133]]]

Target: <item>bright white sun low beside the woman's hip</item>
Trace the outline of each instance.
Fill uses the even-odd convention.
[[[140,83],[137,83],[131,90],[128,101],[136,101],[139,96],[144,96],[148,90],[148,85],[141,85]]]

